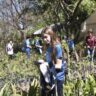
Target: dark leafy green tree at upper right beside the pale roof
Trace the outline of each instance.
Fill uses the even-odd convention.
[[[39,0],[47,23],[61,23],[66,35],[80,34],[81,23],[95,10],[96,0]],[[49,22],[48,22],[49,21]],[[63,31],[63,32],[64,32]]]

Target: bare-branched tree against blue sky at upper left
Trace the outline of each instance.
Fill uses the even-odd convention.
[[[0,20],[4,23],[4,28],[14,28],[24,39],[24,31],[28,28],[33,14],[38,13],[38,2],[36,0],[1,0],[0,1]],[[7,28],[6,28],[7,29]],[[6,31],[6,30],[5,30]],[[8,30],[7,30],[8,32]]]

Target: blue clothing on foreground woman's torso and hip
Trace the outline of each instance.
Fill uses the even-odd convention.
[[[56,59],[63,57],[61,44],[56,44],[55,50],[56,50]],[[46,50],[46,61],[48,63],[52,62],[51,54],[52,54],[52,48],[49,46]],[[57,80],[64,80],[64,60],[62,60],[62,66],[61,66],[60,71],[56,72],[56,79]]]

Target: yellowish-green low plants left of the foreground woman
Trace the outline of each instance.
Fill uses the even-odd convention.
[[[38,68],[33,61],[40,56],[31,52],[31,58],[26,59],[26,54],[18,52],[12,60],[3,51],[0,53],[0,80],[4,82],[17,82],[21,78],[39,77]]]

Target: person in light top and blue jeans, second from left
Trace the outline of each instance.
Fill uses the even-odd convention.
[[[30,59],[30,50],[31,50],[30,36],[27,36],[25,40],[25,52],[27,59]]]

